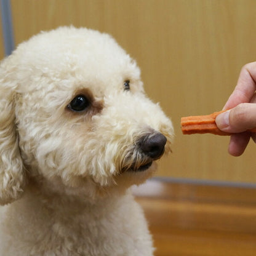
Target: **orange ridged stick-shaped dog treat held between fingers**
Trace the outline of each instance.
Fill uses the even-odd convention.
[[[225,112],[218,111],[206,116],[186,116],[181,119],[183,134],[215,134],[215,135],[231,135],[228,132],[223,132],[218,129],[215,118],[218,114]],[[256,132],[256,129],[249,130]]]

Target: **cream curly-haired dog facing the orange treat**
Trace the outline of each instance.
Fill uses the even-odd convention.
[[[172,137],[108,34],[62,27],[20,44],[0,65],[0,255],[153,255],[129,187]]]

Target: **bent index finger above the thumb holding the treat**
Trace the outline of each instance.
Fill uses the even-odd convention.
[[[256,90],[256,62],[251,62],[242,67],[238,84],[228,98],[223,110],[234,108],[239,103],[250,102]]]

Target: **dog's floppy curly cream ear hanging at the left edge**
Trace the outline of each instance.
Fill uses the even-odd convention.
[[[11,57],[9,57],[11,58]],[[6,58],[0,64],[0,204],[22,195],[25,174],[15,124],[14,66]]]

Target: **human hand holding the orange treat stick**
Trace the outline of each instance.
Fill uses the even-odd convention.
[[[256,143],[256,134],[247,130],[256,127],[256,62],[246,64],[239,75],[238,84],[219,114],[216,124],[220,130],[233,133],[228,151],[240,156],[249,143],[250,137]],[[229,110],[230,109],[230,110]]]

